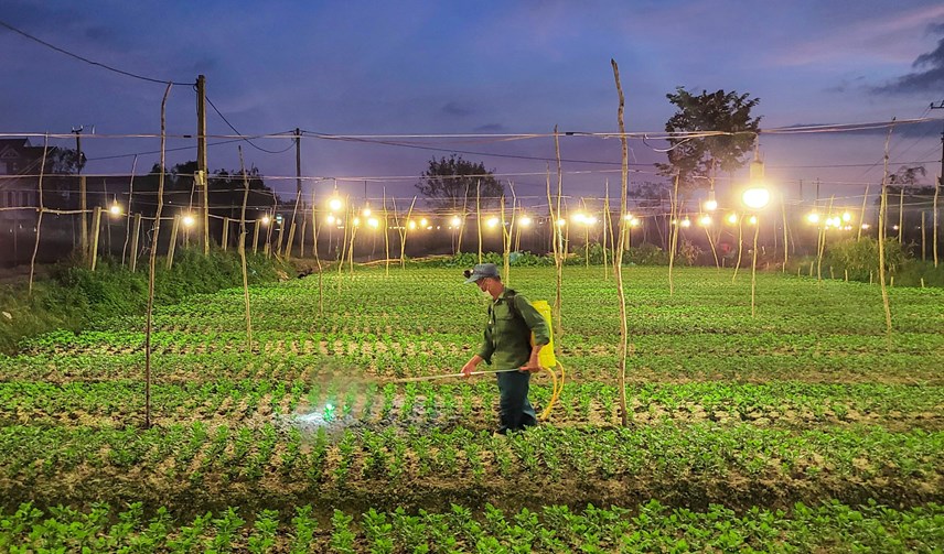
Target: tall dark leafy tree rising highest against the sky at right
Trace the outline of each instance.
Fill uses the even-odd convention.
[[[744,164],[744,154],[750,152],[760,130],[760,117],[752,118],[751,109],[759,98],[749,94],[718,90],[694,96],[683,87],[675,94],[665,95],[678,111],[665,123],[666,132],[723,131],[723,134],[704,138],[671,138],[672,150],[668,163],[657,163],[662,175],[678,173],[679,186],[698,188],[698,178],[708,178],[714,187],[718,170],[732,172]]]

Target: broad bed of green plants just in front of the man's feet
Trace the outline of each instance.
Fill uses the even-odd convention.
[[[866,497],[911,504],[941,501],[944,490],[944,432],[668,421],[540,426],[508,437],[420,425],[329,434],[323,410],[296,425],[0,427],[0,498],[8,506],[159,497],[178,498],[181,508],[307,498],[426,506],[554,491],[561,501],[622,506],[652,496],[686,506]]]

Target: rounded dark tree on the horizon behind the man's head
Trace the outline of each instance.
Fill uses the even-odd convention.
[[[485,164],[469,162],[455,154],[448,160],[433,157],[420,177],[422,181],[416,187],[441,209],[455,211],[474,206],[476,187],[480,186],[478,194],[481,195],[482,206],[497,206],[505,194],[505,187],[491,171],[485,171]]]

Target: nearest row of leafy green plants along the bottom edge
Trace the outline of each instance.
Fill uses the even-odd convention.
[[[250,552],[935,552],[944,543],[940,504],[895,509],[875,501],[787,510],[753,507],[737,513],[719,504],[705,510],[672,508],[651,500],[627,510],[592,504],[576,510],[481,511],[453,504],[442,512],[404,509],[362,513],[311,506],[290,513],[247,513],[228,507],[179,520],[163,507],[152,517],[135,502],[87,510],[40,509],[23,503],[0,512],[0,547],[29,552],[148,553]]]

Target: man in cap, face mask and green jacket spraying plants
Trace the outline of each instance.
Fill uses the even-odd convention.
[[[465,270],[465,283],[475,283],[489,300],[489,323],[479,352],[472,356],[462,373],[470,376],[484,361],[502,371],[496,373],[500,392],[501,425],[496,433],[521,431],[537,425],[537,416],[528,400],[533,371],[539,371],[538,355],[550,341],[544,317],[530,302],[512,289],[505,289],[494,263],[480,263]],[[532,333],[534,344],[532,344]]]

